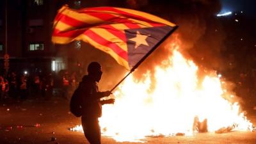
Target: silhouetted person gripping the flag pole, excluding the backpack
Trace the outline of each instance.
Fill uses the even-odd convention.
[[[113,104],[115,99],[100,100],[108,97],[111,92],[99,92],[97,83],[102,76],[101,66],[92,62],[87,68],[88,75],[84,76],[79,86],[83,93],[82,125],[84,136],[91,144],[100,144],[100,126],[98,118],[102,115],[102,104]]]

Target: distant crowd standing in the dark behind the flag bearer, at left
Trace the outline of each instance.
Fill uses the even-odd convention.
[[[26,100],[29,97],[43,97],[45,100],[52,96],[70,99],[77,87],[80,76],[76,72],[65,71],[61,74],[27,74],[9,72],[0,75],[0,101],[6,99]]]

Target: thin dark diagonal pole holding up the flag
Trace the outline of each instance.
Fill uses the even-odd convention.
[[[113,92],[113,90],[115,90],[115,88],[120,84],[122,83],[126,77],[128,77],[136,68],[139,67],[139,65],[153,52],[156,50],[156,48],[162,44],[164,42],[164,40],[166,40],[166,38],[168,38],[172,33],[173,31],[175,31],[176,29],[178,28],[178,26],[175,26],[171,31],[169,31],[169,33],[167,33],[167,35],[165,35],[159,42],[157,42],[157,44],[150,50],[148,51],[147,54],[145,54],[145,56],[143,56],[143,58],[141,58],[140,61],[138,61],[138,63],[136,63],[136,65],[134,65],[134,67],[132,67],[132,69],[130,70],[130,72],[123,78],[121,79],[121,81],[119,81],[111,90],[110,92]]]

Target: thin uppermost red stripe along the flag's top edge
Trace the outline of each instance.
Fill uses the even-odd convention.
[[[148,22],[152,26],[164,26],[164,24],[160,24],[159,25],[159,24],[157,24],[157,22],[154,22],[154,21],[152,21],[150,19],[147,19],[146,17],[141,17],[140,15],[134,15],[132,13],[124,12],[122,10],[118,10],[118,9],[112,8],[112,7],[85,8],[84,10],[85,11],[92,11],[92,12],[93,12],[93,10],[97,10],[97,11],[111,11],[111,12],[115,12],[115,13],[121,13],[122,15],[125,15],[125,17],[131,17],[131,18],[134,18],[134,19],[143,20],[145,22]]]

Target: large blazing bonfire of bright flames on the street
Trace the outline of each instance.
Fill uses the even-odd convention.
[[[223,88],[217,74],[209,74],[202,81],[198,67],[186,60],[174,46],[172,56],[151,72],[144,81],[132,76],[115,91],[115,104],[104,105],[100,127],[104,136],[116,141],[141,141],[145,136],[173,136],[195,134],[195,117],[200,122],[207,120],[207,130],[217,131],[222,127],[233,130],[252,131],[252,123],[240,112],[237,102],[224,97],[232,95]],[[150,84],[154,77],[154,90]],[[79,128],[79,127],[77,127]],[[81,127],[80,127],[81,129]]]

